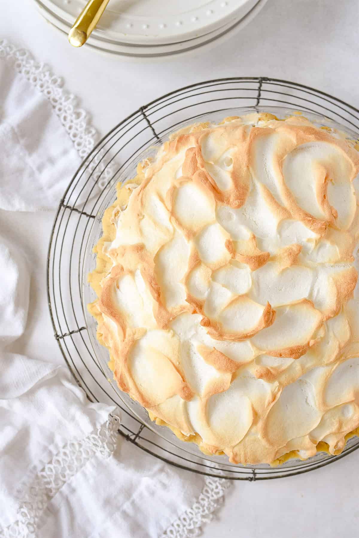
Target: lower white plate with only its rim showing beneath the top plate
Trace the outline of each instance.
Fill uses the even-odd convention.
[[[56,13],[46,8],[44,0],[35,0],[41,15],[43,15],[50,23],[56,26],[63,32],[68,32],[68,23],[59,18]],[[170,1],[170,0],[169,0]],[[223,25],[219,29],[209,32],[200,37],[191,40],[183,41],[175,44],[166,45],[136,45],[130,43],[118,42],[116,40],[106,39],[104,34],[96,34],[93,32],[88,39],[86,46],[92,46],[101,49],[105,52],[111,52],[123,56],[128,59],[166,59],[168,56],[181,56],[191,52],[195,52],[200,47],[209,47],[210,45],[219,44],[223,40],[229,38],[235,32],[241,30],[247,25],[263,8],[267,0],[255,0],[252,9],[242,18],[234,18],[229,23]]]

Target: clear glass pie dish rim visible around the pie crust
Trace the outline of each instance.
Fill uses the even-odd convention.
[[[203,461],[206,461],[212,465],[214,464],[216,466],[219,466],[220,469],[224,468],[226,470],[228,470],[229,468],[237,469],[238,466],[243,468],[243,465],[229,463],[226,456],[206,456],[199,451],[198,447],[194,443],[186,443],[179,440],[179,438],[176,437],[170,429],[164,426],[158,426],[156,423],[152,422],[149,418],[147,411],[142,406],[140,406],[138,402],[133,401],[128,394],[122,392],[118,388],[116,381],[112,381],[112,372],[109,370],[108,367],[108,351],[102,345],[100,345],[100,343],[98,343],[96,339],[96,321],[87,311],[88,303],[92,302],[96,298],[95,293],[88,284],[87,275],[95,267],[95,254],[93,253],[93,247],[96,245],[98,239],[100,239],[102,235],[101,220],[104,211],[116,200],[117,182],[124,182],[126,180],[134,178],[136,176],[136,168],[138,162],[154,157],[154,155],[156,155],[158,151],[158,147],[163,144],[163,141],[165,141],[171,133],[177,132],[179,129],[181,129],[181,127],[184,127],[185,125],[188,125],[190,123],[197,122],[219,123],[224,117],[243,116],[245,114],[249,114],[250,112],[271,112],[279,119],[285,119],[286,117],[293,114],[298,114],[298,110],[296,109],[280,107],[244,107],[221,109],[220,111],[212,111],[206,114],[192,116],[190,122],[186,120],[184,122],[177,123],[175,126],[171,126],[170,128],[161,131],[160,136],[156,134],[157,139],[152,140],[151,144],[147,146],[144,144],[145,147],[140,148],[141,151],[136,152],[136,156],[129,160],[128,164],[126,164],[126,166],[122,168],[121,173],[119,173],[118,175],[115,174],[114,178],[112,178],[112,180],[109,182],[105,189],[105,196],[103,197],[101,204],[96,211],[96,215],[91,225],[87,244],[83,253],[81,274],[83,311],[85,313],[86,327],[90,343],[93,347],[94,354],[101,365],[101,370],[104,376],[107,378],[108,382],[111,384],[111,387],[116,394],[116,398],[121,400],[122,404],[129,409],[130,413],[135,415],[138,421],[144,424],[148,429],[150,429],[153,434],[161,437],[162,440],[164,440],[166,443],[170,443],[170,445],[172,445],[175,450],[185,452],[187,454],[187,459],[202,458]],[[341,125],[333,121],[326,116],[320,116],[318,114],[313,114],[312,112],[306,111],[305,117],[319,128],[333,128],[337,132],[340,132],[341,136],[346,137],[350,140],[356,140],[358,138],[356,132],[350,130],[347,126]],[[334,461],[334,459],[336,458],[342,457],[343,455],[357,448],[358,444],[359,440],[357,437],[354,436],[348,440],[346,447],[340,455],[330,456],[326,454],[326,452],[318,452],[315,456],[308,458],[305,461],[302,461],[299,458],[291,458],[285,463],[281,463],[280,465],[278,465],[275,469],[277,472],[281,469],[291,470],[293,472],[304,472],[303,469],[305,469],[306,467],[308,468],[307,470],[309,470],[309,468],[313,468],[314,466],[324,465],[326,463],[330,463],[330,461]],[[270,470],[272,468],[267,464],[259,464],[247,465],[245,466],[245,469],[252,469],[256,473],[259,473],[261,471],[266,471],[270,473]]]

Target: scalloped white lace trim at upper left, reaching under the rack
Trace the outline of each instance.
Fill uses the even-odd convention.
[[[38,89],[50,101],[55,114],[73,141],[81,159],[85,159],[95,147],[98,133],[90,125],[90,115],[79,108],[79,100],[64,88],[61,77],[53,74],[50,66],[34,60],[32,54],[24,48],[17,49],[6,39],[0,39],[0,58],[8,61],[14,69],[23,75],[33,88]],[[101,175],[98,186],[104,188],[112,176],[111,167],[102,165],[103,151],[98,152],[88,166],[87,173],[92,174],[94,181]],[[100,164],[99,164],[100,163]]]

